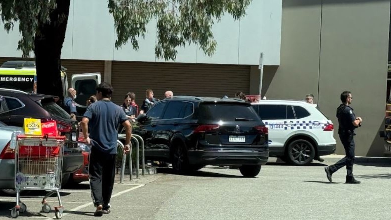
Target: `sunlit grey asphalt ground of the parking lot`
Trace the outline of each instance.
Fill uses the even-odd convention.
[[[260,175],[244,178],[239,170],[208,166],[192,175],[175,175],[160,168],[156,175],[115,184],[111,213],[105,219],[389,219],[391,164],[354,166],[359,185],[343,184],[346,170],[329,183],[323,167],[329,162],[296,167],[269,163]],[[52,219],[40,199],[23,198],[27,217]],[[63,219],[89,219],[95,210],[89,185],[62,190]],[[56,197],[49,199],[56,205]],[[0,197],[0,219],[9,218],[13,197]]]

